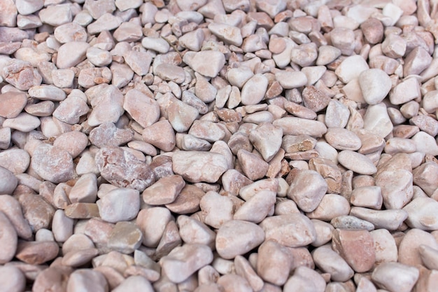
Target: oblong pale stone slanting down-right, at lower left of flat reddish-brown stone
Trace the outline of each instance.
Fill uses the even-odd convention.
[[[353,277],[354,271],[348,263],[333,251],[330,245],[323,245],[312,251],[312,258],[316,267],[330,274],[334,281],[348,281]]]

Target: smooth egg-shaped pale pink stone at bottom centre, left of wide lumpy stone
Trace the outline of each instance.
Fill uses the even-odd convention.
[[[259,246],[263,240],[264,231],[260,226],[247,221],[230,220],[218,229],[216,251],[222,258],[232,259]]]

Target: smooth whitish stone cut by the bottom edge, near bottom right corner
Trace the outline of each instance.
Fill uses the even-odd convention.
[[[418,280],[419,272],[416,267],[402,263],[382,263],[374,269],[371,277],[378,287],[408,292]]]

